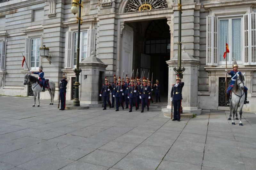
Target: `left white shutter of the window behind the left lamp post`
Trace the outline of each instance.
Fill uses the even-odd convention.
[[[66,32],[66,43],[65,43],[65,68],[71,68],[71,56],[72,56],[72,31]]]

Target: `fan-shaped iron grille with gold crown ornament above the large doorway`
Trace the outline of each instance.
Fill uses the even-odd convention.
[[[167,8],[166,0],[129,0],[124,12],[149,11],[153,9]]]

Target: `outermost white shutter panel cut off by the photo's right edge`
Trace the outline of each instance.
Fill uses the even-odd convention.
[[[256,13],[250,14],[250,65],[256,65]]]

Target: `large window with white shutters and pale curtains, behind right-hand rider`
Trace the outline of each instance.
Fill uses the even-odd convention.
[[[206,18],[206,65],[224,65],[226,42],[227,63],[235,58],[243,65],[256,65],[256,13],[239,16]]]

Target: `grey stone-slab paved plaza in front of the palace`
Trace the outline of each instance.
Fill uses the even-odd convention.
[[[256,115],[228,112],[172,121],[161,106],[57,109],[57,101],[0,96],[1,170],[255,170]]]

